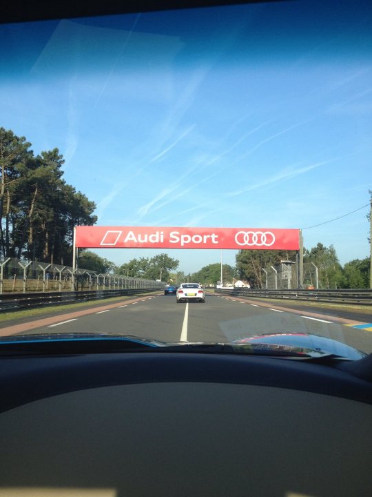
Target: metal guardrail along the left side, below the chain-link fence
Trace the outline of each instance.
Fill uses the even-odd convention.
[[[125,295],[137,295],[138,293],[149,293],[161,289],[122,289],[122,290],[88,290],[72,292],[50,292],[50,293],[3,293],[0,295],[0,313],[8,311],[20,311],[33,307],[44,307],[49,305],[72,304],[76,302],[87,302],[89,300],[101,300],[111,297]]]

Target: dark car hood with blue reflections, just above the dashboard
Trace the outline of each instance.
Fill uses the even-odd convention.
[[[38,333],[0,338],[1,351],[169,351],[189,353],[242,353],[282,358],[324,358],[333,356],[358,360],[366,354],[331,338],[307,333],[270,333],[240,338],[234,342],[162,342],[121,333]]]

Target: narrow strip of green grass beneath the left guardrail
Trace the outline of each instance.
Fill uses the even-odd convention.
[[[5,313],[0,313],[0,323],[6,321],[16,321],[25,318],[35,318],[38,316],[48,316],[50,314],[56,314],[56,311],[63,313],[64,311],[77,311],[79,309],[87,309],[94,306],[102,306],[105,304],[113,304],[114,302],[123,302],[123,300],[130,300],[133,298],[138,298],[146,295],[153,295],[158,292],[149,293],[138,293],[138,295],[123,295],[121,297],[112,297],[101,300],[89,300],[87,302],[76,302],[75,304],[62,304],[62,305],[52,305],[48,304],[45,307],[35,307],[31,309],[23,309],[22,311],[9,311]]]

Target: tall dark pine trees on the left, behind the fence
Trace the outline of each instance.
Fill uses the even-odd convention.
[[[71,265],[73,228],[94,224],[96,205],[65,182],[58,148],[30,147],[0,128],[0,257]]]

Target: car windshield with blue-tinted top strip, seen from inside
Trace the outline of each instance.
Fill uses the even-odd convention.
[[[0,39],[3,340],[372,352],[368,1],[9,23]]]

